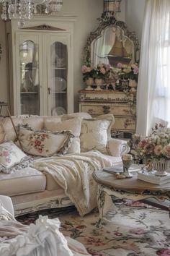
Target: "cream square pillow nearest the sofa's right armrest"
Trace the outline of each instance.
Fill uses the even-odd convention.
[[[80,135],[81,152],[99,150],[108,154],[107,141],[111,137],[114,122],[112,114],[97,116],[95,119],[83,119]]]

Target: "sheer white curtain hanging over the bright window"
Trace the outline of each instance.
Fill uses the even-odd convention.
[[[140,53],[137,130],[170,127],[170,0],[147,0]]]

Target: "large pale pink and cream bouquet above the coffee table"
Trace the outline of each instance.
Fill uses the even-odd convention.
[[[133,135],[130,142],[130,153],[135,158],[170,160],[170,129],[165,129],[161,124],[156,124],[150,136],[141,138],[140,135]]]

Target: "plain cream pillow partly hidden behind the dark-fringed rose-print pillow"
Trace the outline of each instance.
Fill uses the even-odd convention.
[[[53,119],[46,119],[45,129],[50,131],[61,132],[63,130],[70,130],[74,135],[71,147],[68,149],[68,153],[80,153],[80,133],[81,133],[81,117],[75,117],[65,121],[53,121]]]

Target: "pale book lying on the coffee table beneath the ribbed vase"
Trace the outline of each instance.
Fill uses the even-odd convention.
[[[149,182],[156,185],[163,185],[166,183],[170,183],[170,173],[166,176],[156,176],[156,171],[139,171],[138,172],[138,179],[142,180],[143,182]]]

